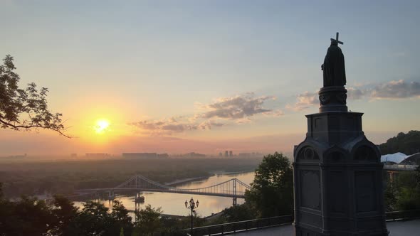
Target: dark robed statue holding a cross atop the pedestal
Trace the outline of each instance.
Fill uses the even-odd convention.
[[[321,70],[324,74],[324,87],[329,86],[344,86],[346,84],[346,73],[344,65],[344,55],[341,48],[338,47],[338,33],[336,38],[331,38],[330,48],[325,55],[324,64],[321,65]]]

